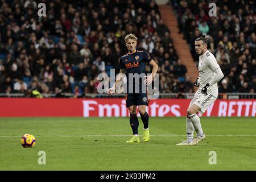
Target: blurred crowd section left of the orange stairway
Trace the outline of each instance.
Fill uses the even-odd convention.
[[[38,16],[39,2],[46,17]],[[0,7],[0,93],[97,93],[99,73],[119,72],[130,33],[159,64],[161,93],[192,92],[154,1],[1,0]]]

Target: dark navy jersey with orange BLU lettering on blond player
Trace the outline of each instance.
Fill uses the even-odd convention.
[[[138,74],[141,75],[142,73],[146,73],[146,62],[149,63],[152,60],[150,55],[148,55],[145,51],[136,51],[133,54],[126,54],[123,55],[119,60],[119,68],[125,69],[125,75],[127,77],[127,88],[131,86],[129,84],[129,74]],[[144,78],[144,77],[143,77]],[[139,86],[139,92],[142,92],[141,86],[143,83],[143,78],[140,79],[139,82],[135,81],[133,82],[133,88],[135,86]],[[129,91],[127,90],[127,93],[129,94]],[[133,92],[134,93],[134,92]]]

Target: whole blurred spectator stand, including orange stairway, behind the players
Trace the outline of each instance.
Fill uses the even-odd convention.
[[[38,16],[42,2],[46,17]],[[208,15],[212,2],[216,17]],[[254,1],[0,0],[0,7],[1,97],[109,97],[97,93],[97,76],[119,72],[130,33],[159,65],[160,98],[193,96],[193,44],[202,34],[225,75],[219,97],[256,97]]]

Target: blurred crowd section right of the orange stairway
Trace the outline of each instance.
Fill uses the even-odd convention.
[[[216,3],[217,16],[209,17],[209,3]],[[200,34],[211,36],[209,51],[216,56],[225,77],[220,93],[256,91],[256,6],[253,0],[172,1],[179,19],[179,29],[194,51]],[[198,62],[197,62],[198,63]]]

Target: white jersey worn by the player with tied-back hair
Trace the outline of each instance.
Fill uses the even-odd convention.
[[[214,71],[216,69],[220,69],[220,65],[218,65],[217,60],[215,59],[214,55],[209,52],[208,50],[199,56],[199,89],[197,92],[201,93],[202,88],[209,83],[210,80],[216,75]],[[218,96],[218,84],[210,85],[209,90],[207,93],[213,94],[213,96]]]

